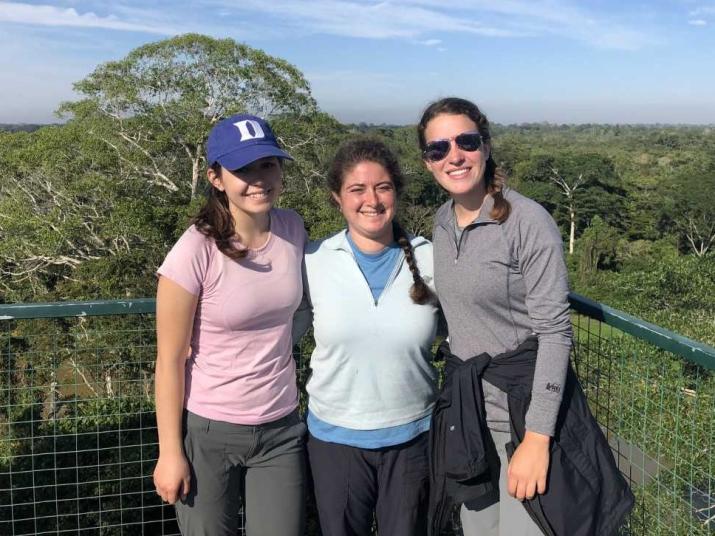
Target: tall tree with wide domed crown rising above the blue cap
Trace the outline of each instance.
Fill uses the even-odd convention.
[[[195,197],[211,125],[237,112],[263,116],[315,111],[301,72],[239,44],[186,34],[141,46],[75,84],[84,95],[64,103],[111,147],[126,176]],[[182,177],[190,177],[186,184]]]

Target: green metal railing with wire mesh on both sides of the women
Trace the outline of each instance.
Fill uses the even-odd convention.
[[[571,305],[577,373],[637,497],[623,533],[712,536],[715,349]],[[0,534],[179,534],[151,481],[153,312],[152,299],[0,305]]]

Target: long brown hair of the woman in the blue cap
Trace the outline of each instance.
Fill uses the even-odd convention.
[[[222,168],[218,162],[215,162],[211,169],[217,175],[221,174]],[[226,192],[222,192],[215,186],[209,185],[206,202],[191,223],[201,234],[213,238],[218,250],[230,259],[237,261],[248,254],[247,249],[238,249],[234,243],[236,226],[228,207],[228,197]]]

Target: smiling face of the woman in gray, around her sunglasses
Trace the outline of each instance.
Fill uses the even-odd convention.
[[[489,144],[483,143],[476,151],[465,151],[454,141],[459,134],[478,130],[476,123],[466,115],[440,114],[427,123],[424,131],[427,143],[451,140],[445,158],[436,162],[425,160],[425,165],[439,185],[457,202],[486,191],[484,171],[489,157]]]

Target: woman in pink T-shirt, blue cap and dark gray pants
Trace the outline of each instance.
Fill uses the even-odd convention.
[[[259,117],[209,134],[208,200],[158,270],[157,493],[188,535],[299,536],[305,424],[291,320],[300,217],[273,204],[291,157]]]

